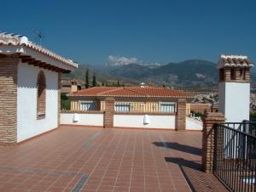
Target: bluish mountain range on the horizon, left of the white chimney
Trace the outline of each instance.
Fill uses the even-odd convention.
[[[192,86],[196,84],[212,85],[218,82],[216,64],[207,60],[193,59],[180,63],[169,63],[157,68],[147,65],[110,66],[106,69],[110,76],[127,77],[139,82],[154,82],[154,84],[168,86]]]

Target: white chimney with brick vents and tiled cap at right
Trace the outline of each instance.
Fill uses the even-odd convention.
[[[218,60],[218,111],[226,122],[241,122],[250,117],[250,69],[247,56],[220,55]]]

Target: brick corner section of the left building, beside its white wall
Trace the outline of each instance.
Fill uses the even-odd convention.
[[[17,143],[19,55],[0,55],[0,144]]]

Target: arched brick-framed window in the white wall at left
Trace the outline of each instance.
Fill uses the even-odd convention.
[[[45,83],[45,76],[44,76],[44,72],[40,71],[38,73],[38,98],[37,98],[37,102],[38,102],[38,118],[44,118],[45,117],[45,103],[46,103],[46,83]]]

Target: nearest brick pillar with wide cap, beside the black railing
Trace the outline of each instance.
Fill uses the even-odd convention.
[[[202,170],[212,173],[214,155],[214,124],[224,122],[222,113],[207,113],[203,119],[202,133]]]

